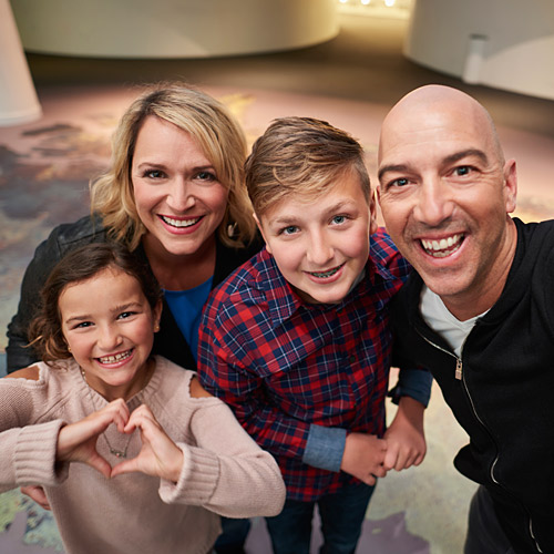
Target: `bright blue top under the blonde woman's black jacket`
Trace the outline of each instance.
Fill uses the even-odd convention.
[[[212,290],[213,276],[188,290],[164,290],[165,300],[177,326],[191,347],[194,359],[198,360],[198,326],[202,308]]]

